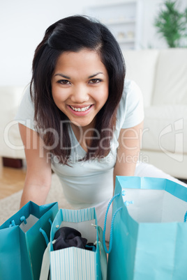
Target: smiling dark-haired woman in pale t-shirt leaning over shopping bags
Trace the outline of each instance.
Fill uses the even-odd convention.
[[[142,95],[124,83],[125,72],[117,41],[99,22],[73,16],[47,29],[16,116],[27,160],[21,206],[45,203],[52,166],[68,202],[95,206],[103,226],[116,176],[166,176],[137,164]]]

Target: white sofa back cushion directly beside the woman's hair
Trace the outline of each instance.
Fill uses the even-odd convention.
[[[123,52],[123,55],[126,62],[126,78],[132,79],[140,86],[144,107],[149,107],[154,90],[158,50],[132,50]]]

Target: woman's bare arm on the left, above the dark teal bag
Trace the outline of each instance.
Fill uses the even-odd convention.
[[[51,163],[39,134],[19,124],[27,160],[27,174],[20,207],[28,201],[45,204],[51,185]]]

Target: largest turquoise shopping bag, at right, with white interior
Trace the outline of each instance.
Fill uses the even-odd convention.
[[[187,279],[187,188],[118,176],[112,201],[107,279]]]

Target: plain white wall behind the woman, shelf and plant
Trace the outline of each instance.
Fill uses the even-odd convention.
[[[0,3],[0,86],[22,86],[31,79],[31,61],[45,29],[85,7],[116,0],[8,0]],[[120,0],[119,0],[120,1]],[[121,0],[122,1],[122,0]],[[142,0],[142,47],[165,47],[153,26],[164,0]],[[187,0],[181,0],[186,5]]]

